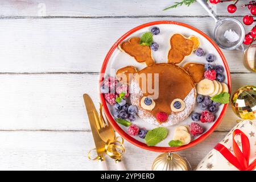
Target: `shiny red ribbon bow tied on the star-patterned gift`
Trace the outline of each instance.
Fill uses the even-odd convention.
[[[236,135],[241,136],[242,151],[238,147]],[[250,142],[247,136],[241,130],[233,131],[233,150],[234,155],[223,144],[218,143],[214,149],[219,151],[228,162],[233,164],[240,171],[253,171],[256,168],[256,159],[249,164],[250,160]]]

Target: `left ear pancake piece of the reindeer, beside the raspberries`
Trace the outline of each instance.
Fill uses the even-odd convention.
[[[115,73],[115,76],[120,82],[122,82],[122,84],[130,85],[135,73],[137,73],[137,69],[135,67],[127,66],[118,69],[117,73]]]

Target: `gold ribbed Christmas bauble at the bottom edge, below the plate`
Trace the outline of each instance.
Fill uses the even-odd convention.
[[[168,152],[154,160],[152,171],[188,171],[188,166],[180,155]]]

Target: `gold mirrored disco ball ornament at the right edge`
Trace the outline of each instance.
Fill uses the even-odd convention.
[[[256,86],[247,85],[232,96],[232,109],[242,119],[256,119]]]

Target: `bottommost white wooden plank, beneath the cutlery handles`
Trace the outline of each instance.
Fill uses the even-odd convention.
[[[177,152],[187,158],[192,168],[208,154],[226,133],[214,133],[188,150]],[[123,162],[128,170],[150,170],[157,152],[142,150],[125,142]],[[0,132],[0,168],[2,170],[99,170],[87,158],[94,148],[90,132],[15,131]],[[198,152],[200,151],[200,152]],[[109,169],[117,170],[114,161],[106,159]]]

